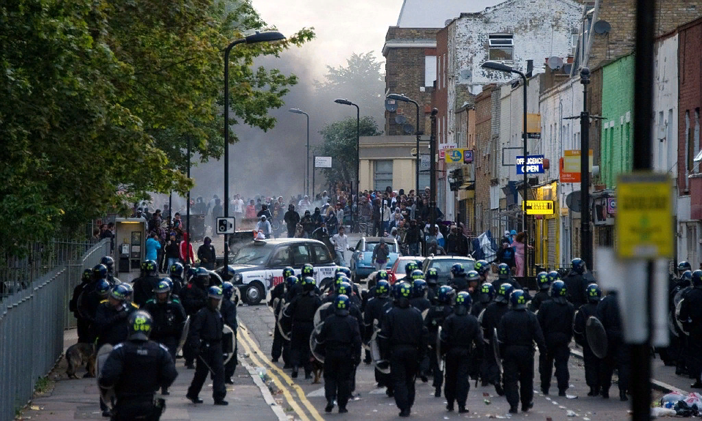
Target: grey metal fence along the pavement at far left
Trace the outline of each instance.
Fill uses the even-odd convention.
[[[53,368],[63,352],[63,331],[73,287],[84,268],[110,251],[110,241],[55,241],[34,246],[25,259],[0,268],[6,289],[0,302],[0,420],[32,397],[37,378]]]

